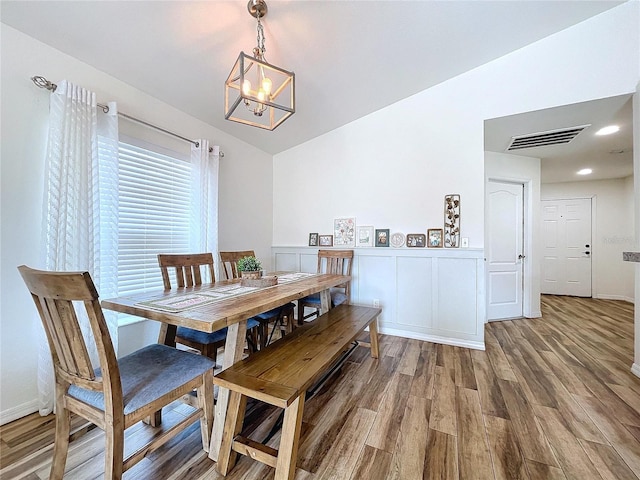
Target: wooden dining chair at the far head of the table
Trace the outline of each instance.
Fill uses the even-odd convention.
[[[317,273],[331,273],[334,275],[351,275],[353,267],[353,250],[318,250]],[[331,306],[351,302],[351,282],[343,283],[331,289]],[[315,293],[298,300],[298,324],[320,312],[320,294]],[[305,308],[313,311],[305,315]]]

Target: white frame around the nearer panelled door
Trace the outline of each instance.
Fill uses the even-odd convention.
[[[537,311],[533,310],[534,305],[540,305],[540,269],[536,269],[535,265],[538,261],[538,253],[536,252],[536,245],[534,243],[533,232],[534,228],[534,205],[533,205],[533,180],[530,178],[518,178],[518,177],[503,177],[492,175],[486,178],[485,180],[485,208],[487,208],[487,188],[486,185],[489,182],[499,182],[499,183],[511,183],[511,184],[519,184],[524,188],[522,201],[523,201],[523,212],[522,212],[522,228],[523,228],[523,243],[522,248],[524,250],[524,261],[522,262],[522,316],[525,318],[538,318],[542,316],[542,312],[538,309]],[[487,214],[485,211],[485,218],[487,218]],[[487,228],[484,229],[485,232],[485,245],[488,245],[488,232]],[[486,262],[486,258],[485,258]],[[537,275],[535,272],[538,272]],[[488,285],[488,275],[489,271],[485,268],[485,285]],[[485,292],[485,295],[488,295]],[[488,305],[488,299],[485,302]],[[485,307],[486,309],[486,307]],[[485,323],[488,315],[485,311]]]

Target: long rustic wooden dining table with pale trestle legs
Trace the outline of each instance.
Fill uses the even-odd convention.
[[[282,273],[284,272],[276,272],[276,274]],[[247,319],[314,293],[320,293],[320,313],[325,313],[331,308],[330,289],[350,280],[351,277],[347,275],[313,274],[229,298],[198,304],[198,297],[203,298],[221,286],[240,283],[240,279],[223,280],[195,287],[157,290],[128,297],[109,298],[102,300],[101,305],[107,310],[161,322],[158,342],[170,346],[175,346],[175,334],[179,326],[207,333],[228,327],[222,361],[222,369],[224,370],[242,360]],[[175,308],[173,311],[160,309],[157,306],[163,303],[171,305],[172,302],[180,302],[182,299],[193,301],[193,306],[184,309]],[[222,443],[228,404],[229,390],[220,388],[209,447],[209,457],[215,461],[218,460]]]

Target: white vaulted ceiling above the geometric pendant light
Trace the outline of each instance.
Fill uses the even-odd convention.
[[[268,0],[266,57],[296,73],[297,97],[296,114],[273,132],[224,120],[224,81],[256,43],[245,0],[2,0],[0,19],[276,154],[620,3]],[[543,113],[488,122],[488,138],[516,134],[514,120],[552,128]]]

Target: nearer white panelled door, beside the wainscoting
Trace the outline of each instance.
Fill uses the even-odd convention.
[[[522,317],[524,185],[487,183],[487,319]]]

